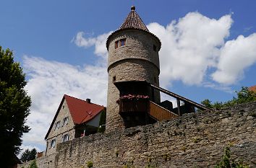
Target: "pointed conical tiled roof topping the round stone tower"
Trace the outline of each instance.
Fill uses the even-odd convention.
[[[139,14],[137,14],[137,12],[135,11],[135,6],[132,6],[131,9],[131,12],[129,12],[127,18],[124,19],[124,23],[121,25],[119,30],[134,28],[149,32],[148,28],[140,18]]]

